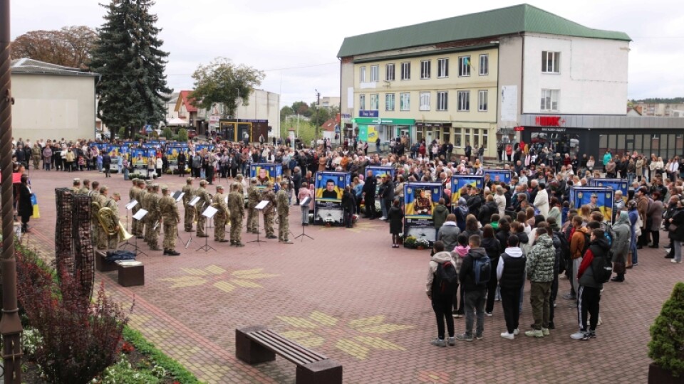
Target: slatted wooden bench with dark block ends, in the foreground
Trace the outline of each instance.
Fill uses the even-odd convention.
[[[235,330],[235,354],[248,364],[274,361],[276,353],[297,365],[297,384],[341,384],[342,366],[266,329],[251,326]]]

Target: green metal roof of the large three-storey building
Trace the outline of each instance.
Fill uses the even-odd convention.
[[[520,32],[631,41],[624,32],[587,28],[529,4],[492,9],[345,38],[338,58]]]

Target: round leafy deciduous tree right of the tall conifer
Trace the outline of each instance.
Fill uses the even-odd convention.
[[[199,65],[192,78],[195,79],[195,91],[190,100],[192,105],[211,109],[215,104],[222,104],[229,116],[235,115],[237,102],[248,105],[249,95],[254,87],[261,85],[264,72],[249,67],[236,65],[228,58],[215,58],[208,65]]]

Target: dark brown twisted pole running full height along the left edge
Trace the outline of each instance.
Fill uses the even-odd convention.
[[[9,1],[0,0],[0,196],[2,208],[2,362],[5,383],[21,383],[21,320],[16,306],[14,209],[12,208],[12,104]]]

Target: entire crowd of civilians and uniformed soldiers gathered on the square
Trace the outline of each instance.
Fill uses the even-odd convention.
[[[453,175],[484,174],[482,149],[466,144],[462,153],[457,153],[461,150],[449,143],[409,142],[406,136],[393,139],[386,154],[368,154],[368,143],[356,139],[346,139],[334,149],[329,141],[306,147],[301,141],[274,139],[256,143],[214,142],[213,149],[200,151],[190,142],[187,156],[183,154],[177,159],[181,169],[178,176],[185,177],[186,168],[192,174],[182,190],[184,228],[187,232],[195,230],[198,237],[208,236],[206,218],[199,213],[213,206],[218,210],[214,216],[214,240],[230,241],[231,245],[242,247],[244,210],[247,210],[247,233],[256,233],[259,228],[255,207],[259,201],[266,200],[269,201],[263,211],[266,237],[276,238],[273,223],[277,214],[280,227],[277,238],[289,243],[287,214],[292,201],[299,204],[300,200],[313,196],[311,189],[316,172],[343,171],[352,180],[343,197],[345,224],[353,225],[352,217],[361,216],[364,213],[361,206],[365,206],[363,218],[373,220],[380,216],[380,220],[386,220],[393,235],[392,247],[398,247],[403,233],[405,183],[442,183],[442,199],[432,210],[437,235],[425,286],[437,318],[438,334],[432,341],[436,346],[452,345],[457,339],[482,338],[484,316],[492,316],[497,300],[502,303],[507,328],[501,336],[514,339],[519,334],[526,279],[530,281],[529,302],[534,324],[524,334],[538,338],[549,335],[555,329],[559,277],[570,282],[569,292],[562,297],[576,302],[578,331],[572,338],[589,340],[596,337],[600,320],[603,278],[597,275],[601,274],[599,269],[605,260],[614,273],[611,281],[623,282],[627,270],[638,266],[638,250],[649,244],[660,247],[660,233],[666,233],[670,244],[665,245],[665,257],[677,264],[682,261],[684,164],[680,156],[663,161],[655,154],[613,154],[607,149],[597,162],[594,155],[583,154],[578,158],[552,146],[530,146],[522,142],[500,145],[499,159],[504,161],[490,167],[511,171],[510,182],[491,180],[484,175],[482,188],[465,186],[459,191],[460,197],[452,199]],[[25,166],[30,158],[36,169],[42,160],[43,169],[54,165],[55,169],[73,171],[81,169],[83,156],[86,169],[99,169],[101,154],[91,151],[95,147],[91,141],[48,140],[43,145],[39,140],[31,145],[28,140],[19,139],[14,144],[17,163]],[[27,147],[31,148],[30,153]],[[73,156],[68,156],[69,153]],[[162,146],[157,153],[163,159],[166,151]],[[275,181],[243,177],[254,163],[281,164],[283,176]],[[368,166],[389,166],[395,172],[376,181],[366,170]],[[591,196],[591,202],[584,206],[571,207],[570,187],[588,186],[592,178],[601,177],[631,181],[626,196],[621,191],[614,193],[609,217],[601,212],[597,196]],[[193,183],[198,178],[201,178],[199,188],[195,188]],[[230,181],[228,196],[220,185],[213,196],[206,190],[207,184],[216,178]],[[162,187],[160,197],[157,184],[136,179],[132,182],[130,200],[135,199],[139,202],[138,208],[149,212],[142,220],[134,221],[133,234],[145,238],[150,249],[157,250],[159,223],[163,223],[165,254],[177,254],[175,227],[180,223],[180,215],[175,201],[168,196],[170,191]],[[100,206],[110,206],[116,211],[115,203],[120,196],[114,193],[109,198],[106,187],[98,188],[95,182],[74,187],[78,187],[79,193],[91,193]],[[375,208],[376,201],[380,203],[379,210]],[[302,207],[301,225],[308,225],[312,206],[313,202]],[[193,229],[195,218],[197,224]],[[228,220],[230,240],[225,240]],[[93,225],[96,227],[95,222]],[[100,233],[98,239],[107,236],[111,235]],[[99,247],[113,245],[107,239],[98,240]],[[464,315],[465,332],[456,335],[453,319]]]

